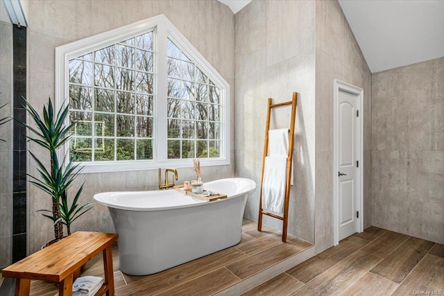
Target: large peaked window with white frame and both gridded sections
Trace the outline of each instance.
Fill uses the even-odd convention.
[[[229,164],[229,85],[163,15],[60,46],[56,68],[84,171]]]

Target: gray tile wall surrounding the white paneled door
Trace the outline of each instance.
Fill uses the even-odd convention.
[[[316,1],[316,252],[333,244],[333,80],[364,89],[364,227],[371,223],[371,74],[338,1]],[[361,110],[362,111],[362,110]]]

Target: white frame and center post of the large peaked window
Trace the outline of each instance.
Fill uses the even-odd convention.
[[[71,42],[56,48],[56,110],[69,104],[69,60],[78,58],[98,49],[121,42],[148,31],[153,31],[154,83],[153,99],[155,101],[155,120],[153,126],[153,160],[82,162],[83,173],[100,173],[112,171],[137,171],[154,169],[162,166],[176,168],[191,167],[190,159],[168,159],[167,148],[167,38],[169,37],[188,57],[196,63],[200,70],[208,76],[220,89],[221,143],[220,156],[201,158],[202,166],[218,166],[230,164],[230,85],[212,67],[203,55],[180,33],[164,15],[137,21],[121,28],[107,31],[83,40]],[[164,61],[164,62],[161,62]],[[60,149],[60,156],[69,153],[69,143]]]

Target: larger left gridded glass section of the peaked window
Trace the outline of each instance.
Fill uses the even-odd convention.
[[[153,159],[153,32],[69,60],[78,162]]]

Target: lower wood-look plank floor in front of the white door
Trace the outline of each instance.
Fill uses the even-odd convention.
[[[244,295],[444,295],[444,245],[369,227]]]

